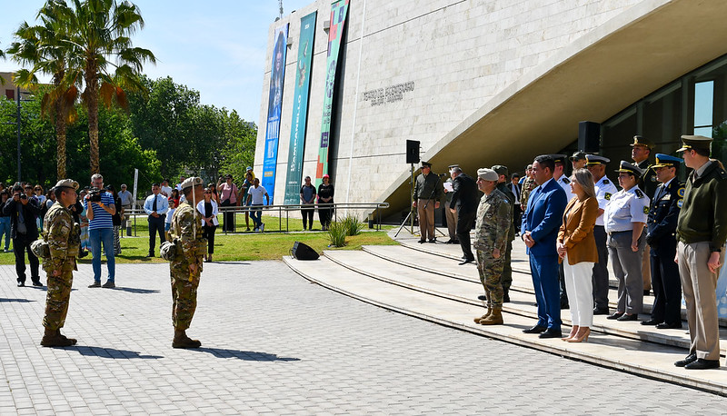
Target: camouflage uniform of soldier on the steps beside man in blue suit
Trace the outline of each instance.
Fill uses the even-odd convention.
[[[483,195],[477,207],[474,226],[474,248],[477,249],[477,271],[487,295],[488,306],[503,307],[503,262],[505,247],[513,222],[510,203],[503,193],[494,189]],[[493,257],[493,250],[500,249],[500,258]]]

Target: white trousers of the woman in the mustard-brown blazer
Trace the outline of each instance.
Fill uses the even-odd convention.
[[[563,258],[565,290],[571,306],[573,325],[591,327],[593,325],[593,264],[579,262],[568,264],[568,254]]]

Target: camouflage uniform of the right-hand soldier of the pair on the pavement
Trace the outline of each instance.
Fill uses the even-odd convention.
[[[174,211],[168,238],[170,241],[178,239],[174,260],[169,264],[172,276],[172,322],[175,330],[185,331],[189,328],[197,307],[197,287],[202,274],[204,253],[207,253],[202,215],[194,215],[194,207],[189,201],[180,203],[179,208]],[[189,271],[189,265],[193,263],[197,265],[194,273]]]

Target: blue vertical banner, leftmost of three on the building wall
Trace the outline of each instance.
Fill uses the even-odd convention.
[[[283,81],[285,78],[285,52],[288,44],[288,25],[275,29],[273,48],[273,69],[270,72],[270,98],[267,104],[267,126],[265,128],[265,157],[263,159],[262,183],[274,201],[275,167],[278,162],[278,138],[280,136],[280,113],[283,109]]]

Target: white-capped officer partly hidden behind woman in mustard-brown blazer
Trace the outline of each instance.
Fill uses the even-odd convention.
[[[606,230],[603,226],[603,213],[608,207],[611,197],[618,192],[608,177],[606,177],[606,163],[611,162],[606,157],[587,154],[586,167],[593,175],[598,201],[598,218],[593,227],[593,237],[598,249],[598,262],[593,265],[593,307],[594,315],[608,314],[608,248],[606,247]]]

